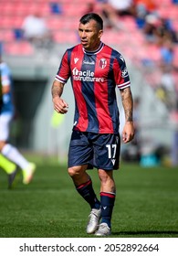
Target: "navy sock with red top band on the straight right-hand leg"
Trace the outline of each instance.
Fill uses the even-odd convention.
[[[107,223],[109,228],[111,228],[111,216],[115,197],[115,193],[100,192],[101,223]]]

